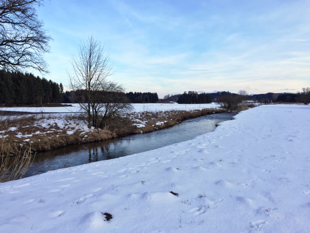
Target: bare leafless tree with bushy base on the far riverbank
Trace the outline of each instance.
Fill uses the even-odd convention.
[[[73,75],[68,72],[70,87],[80,107],[87,113],[89,128],[103,128],[108,118],[131,109],[127,98],[122,95],[122,86],[108,80],[113,74],[109,54],[93,36],[80,44],[78,57],[72,58],[71,65]]]

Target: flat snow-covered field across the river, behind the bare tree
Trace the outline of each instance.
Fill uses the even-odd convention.
[[[0,107],[0,111],[15,111],[15,112],[80,112],[78,104],[72,104],[73,107]],[[132,112],[153,112],[165,110],[193,110],[201,108],[219,107],[216,103],[204,104],[178,104],[178,103],[134,103]]]

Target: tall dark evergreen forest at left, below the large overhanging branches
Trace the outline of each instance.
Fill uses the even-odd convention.
[[[0,70],[0,104],[42,105],[61,103],[64,87],[60,83],[35,77],[31,73]]]

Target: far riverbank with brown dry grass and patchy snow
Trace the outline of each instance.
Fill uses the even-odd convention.
[[[9,151],[13,154],[19,148],[29,147],[33,152],[39,152],[67,145],[148,133],[174,126],[186,119],[220,112],[225,110],[210,107],[194,110],[131,112],[121,119],[115,119],[103,130],[88,129],[85,117],[73,113],[2,117],[0,138],[4,155]]]

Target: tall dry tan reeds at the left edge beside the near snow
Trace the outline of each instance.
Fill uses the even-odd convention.
[[[19,149],[16,153],[9,150],[7,154],[4,154],[2,150],[3,141],[0,150],[0,183],[23,178],[34,158],[31,156],[30,148],[23,152]]]

